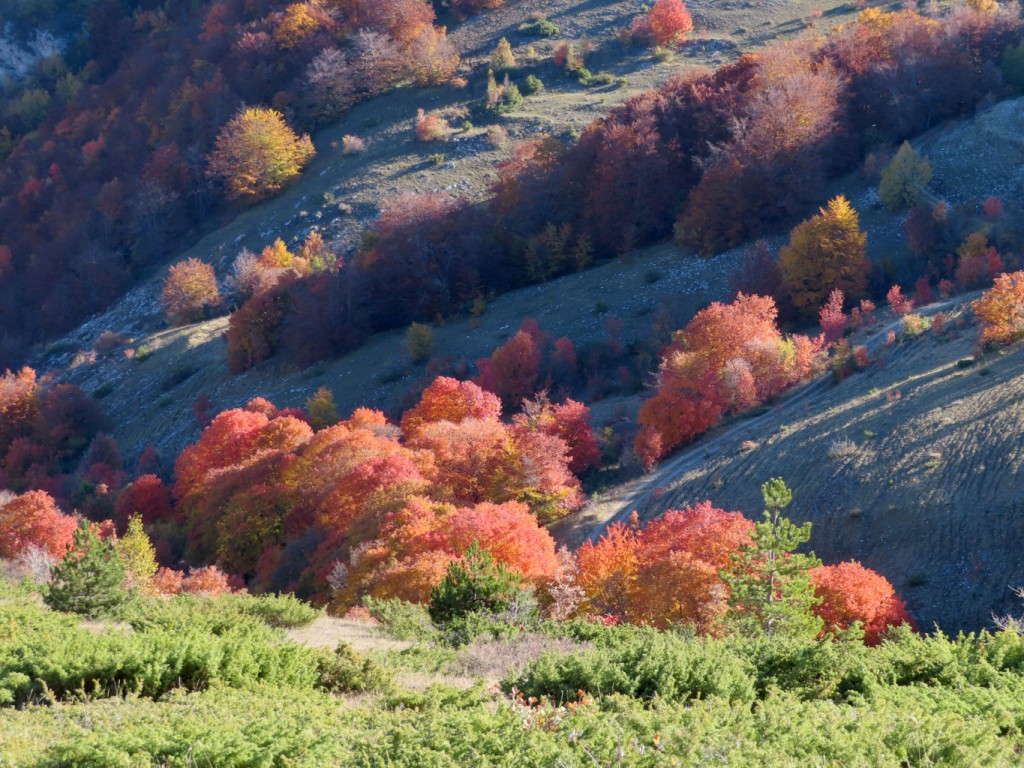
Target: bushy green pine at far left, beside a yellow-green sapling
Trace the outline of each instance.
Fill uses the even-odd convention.
[[[114,545],[85,525],[75,531],[71,551],[53,568],[43,600],[54,610],[110,615],[127,599],[124,581],[125,567]]]

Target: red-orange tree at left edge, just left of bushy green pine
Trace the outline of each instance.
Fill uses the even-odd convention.
[[[0,499],[0,557],[12,559],[28,547],[61,558],[72,545],[78,521],[63,514],[49,494],[30,490],[4,503]]]

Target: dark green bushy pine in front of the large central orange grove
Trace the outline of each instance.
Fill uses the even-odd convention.
[[[498,613],[522,595],[522,579],[473,542],[430,591],[430,617],[437,624],[470,613]]]

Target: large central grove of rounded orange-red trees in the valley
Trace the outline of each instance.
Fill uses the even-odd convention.
[[[586,462],[596,452],[589,412],[570,401],[546,404],[535,422],[500,417],[495,395],[446,378],[400,429],[367,409],[315,433],[262,399],[224,412],[176,465],[189,553],[265,588],[304,573],[326,590],[330,577],[339,605],[366,594],[426,599],[473,541],[527,579],[548,579],[558,562],[540,523],[583,501],[560,434]]]

